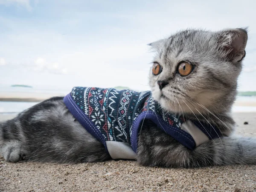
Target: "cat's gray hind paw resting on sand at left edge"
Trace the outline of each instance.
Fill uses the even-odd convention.
[[[25,160],[25,152],[21,148],[21,143],[18,141],[10,141],[1,148],[1,154],[6,161],[18,162]]]

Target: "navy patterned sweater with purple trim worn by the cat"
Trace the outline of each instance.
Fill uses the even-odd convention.
[[[166,113],[151,91],[74,87],[64,97],[64,103],[113,159],[135,159],[138,134],[145,119],[191,150],[221,136],[218,128]]]

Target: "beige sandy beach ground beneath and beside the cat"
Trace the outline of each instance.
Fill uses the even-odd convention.
[[[234,113],[234,118],[237,134],[256,137],[256,113]],[[125,160],[67,165],[1,158],[0,191],[256,191],[256,166],[165,169]]]

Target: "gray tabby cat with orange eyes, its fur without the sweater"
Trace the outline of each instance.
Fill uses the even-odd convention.
[[[228,136],[235,127],[230,111],[246,43],[246,29],[189,29],[150,44],[157,52],[149,77],[154,99],[170,113],[209,122]],[[144,166],[256,164],[253,138],[221,137],[189,150],[149,120],[138,138],[136,158]],[[111,158],[71,115],[62,97],[41,102],[0,124],[0,154],[10,162],[80,163]]]

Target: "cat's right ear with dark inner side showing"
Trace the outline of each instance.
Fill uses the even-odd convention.
[[[240,62],[245,57],[247,28],[228,29],[218,32],[219,50],[231,62]]]

